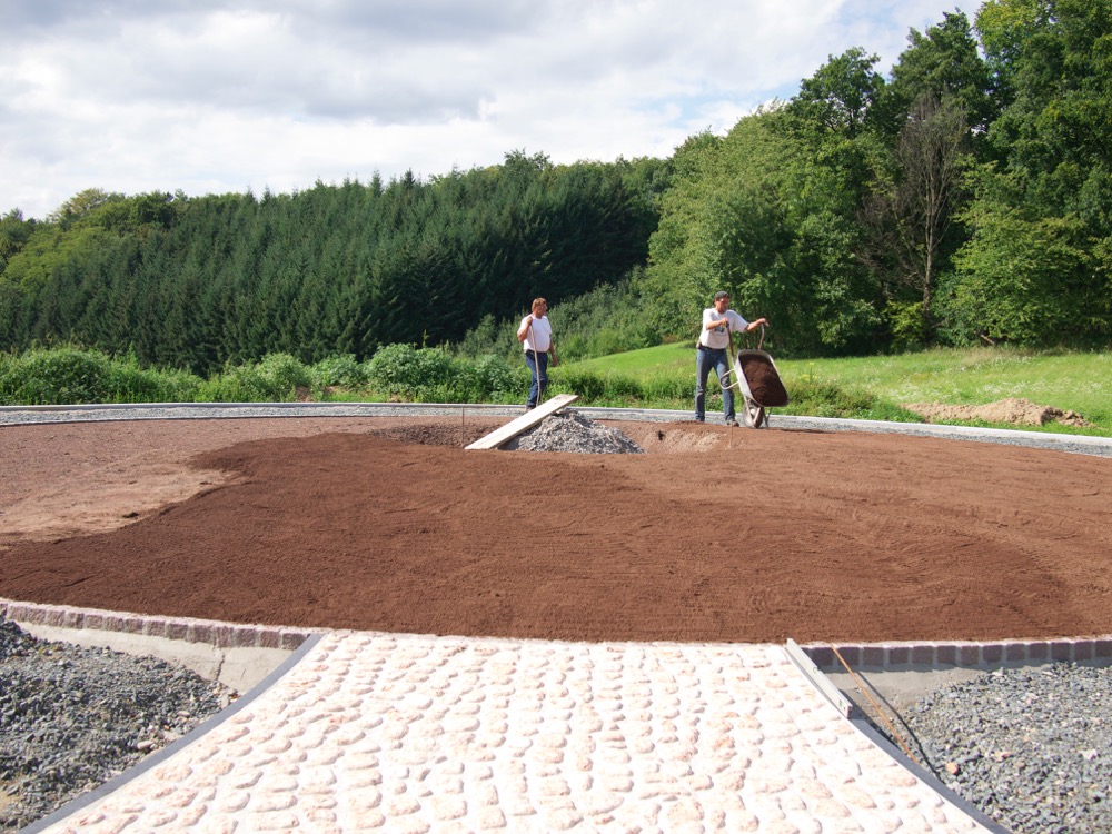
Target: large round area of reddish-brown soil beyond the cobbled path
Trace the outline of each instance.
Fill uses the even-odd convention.
[[[1112,633],[1112,461],[610,423],[646,455],[465,451],[504,420],[0,427],[0,596],[560,639]]]

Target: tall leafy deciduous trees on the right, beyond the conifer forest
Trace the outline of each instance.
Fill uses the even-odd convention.
[[[725,287],[800,354],[1108,344],[1112,2],[990,0],[907,40],[887,78],[851,49],[677,149],[658,328]]]

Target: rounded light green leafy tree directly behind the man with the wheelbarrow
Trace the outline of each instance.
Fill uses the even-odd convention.
[[[694,340],[703,308],[726,289],[745,318],[772,321],[771,344],[781,350],[870,342],[877,291],[854,258],[855,195],[874,140],[825,136],[822,123],[800,138],[798,118],[784,109],[746,117],[723,141],[693,151],[676,177],[651,241],[653,262],[635,285],[653,299],[651,310],[684,311],[647,317],[668,337]]]

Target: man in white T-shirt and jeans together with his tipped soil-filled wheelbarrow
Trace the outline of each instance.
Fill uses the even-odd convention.
[[[737,417],[734,413],[734,389],[739,389],[745,398],[745,425],[759,428],[765,424],[766,407],[780,407],[787,405],[787,391],[780,383],[776,374],[776,366],[772,363],[772,357],[764,350],[742,350],[736,358],[733,354],[733,335],[735,332],[749,332],[761,328],[761,345],[764,345],[764,328],[768,326],[768,320],[758,318],[755,321],[746,321],[736,311],[729,309],[729,294],[718,291],[714,294],[714,306],[703,310],[703,330],[699,334],[698,345],[695,355],[695,420],[703,423],[706,419],[706,381],[711,376],[712,368],[718,378],[722,387],[722,410],[727,426],[736,426]],[[759,375],[759,395],[756,386],[751,387],[746,378],[746,368],[754,376]],[[770,373],[771,371],[771,373]],[[733,381],[731,380],[733,377]],[[755,380],[754,380],[755,381]]]

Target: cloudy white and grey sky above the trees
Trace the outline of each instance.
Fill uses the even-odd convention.
[[[980,0],[961,7],[971,18]],[[9,0],[0,214],[666,157],[946,0]]]

